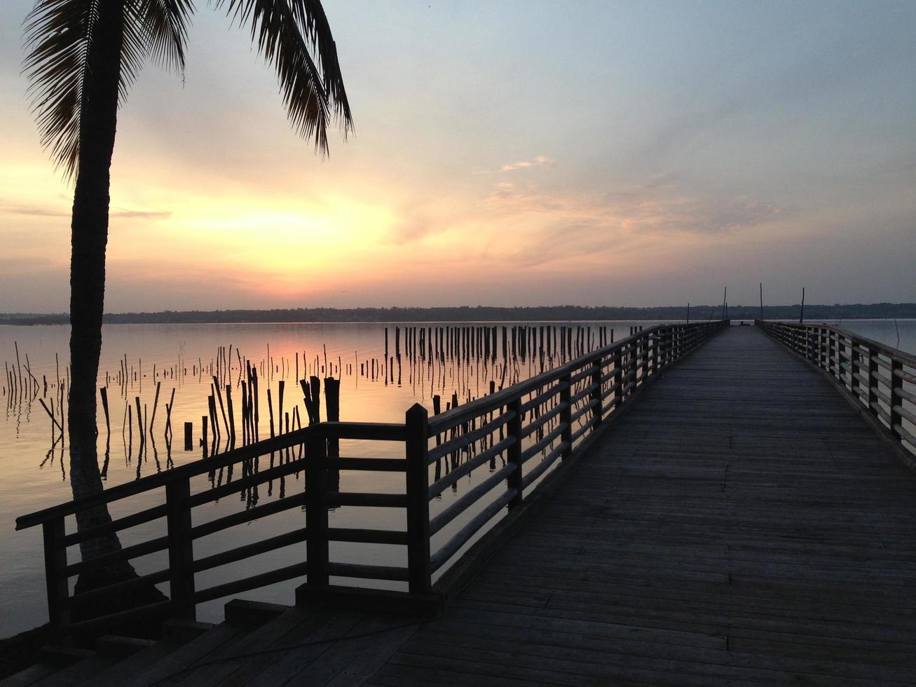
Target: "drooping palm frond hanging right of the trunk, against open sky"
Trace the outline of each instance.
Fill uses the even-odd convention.
[[[277,70],[289,122],[315,149],[328,153],[327,129],[336,119],[344,136],[353,129],[337,49],[318,0],[216,0]],[[321,69],[312,57],[314,53]]]

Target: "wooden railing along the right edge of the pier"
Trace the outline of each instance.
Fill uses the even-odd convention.
[[[833,377],[903,448],[916,453],[916,355],[829,324],[755,323]]]

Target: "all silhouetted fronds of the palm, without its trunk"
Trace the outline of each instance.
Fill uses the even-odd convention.
[[[353,119],[331,27],[318,0],[215,0],[277,70],[289,121],[328,152],[327,129]],[[147,59],[184,70],[192,0],[39,0],[27,17],[24,69],[41,142],[68,177],[79,169],[80,121],[89,46],[100,12],[124,13],[119,102]]]

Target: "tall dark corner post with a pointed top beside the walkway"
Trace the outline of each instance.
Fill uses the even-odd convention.
[[[411,594],[432,589],[430,566],[430,425],[426,409],[415,403],[405,416],[407,457],[407,562]]]

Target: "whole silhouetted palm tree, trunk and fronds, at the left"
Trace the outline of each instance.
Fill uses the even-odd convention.
[[[328,152],[329,125],[353,128],[337,49],[320,0],[213,0],[277,70],[293,128]],[[33,111],[42,145],[75,180],[71,219],[71,488],[102,490],[95,426],[95,384],[102,348],[105,246],[117,110],[144,62],[184,69],[192,0],[37,0],[27,17],[27,58]],[[107,509],[78,514],[85,529],[109,521]],[[83,560],[120,548],[114,536],[81,544]],[[133,574],[129,566],[107,571]],[[93,586],[102,580],[85,581]]]

